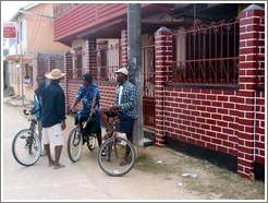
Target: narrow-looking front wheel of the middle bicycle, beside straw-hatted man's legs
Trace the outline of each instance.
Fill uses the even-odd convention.
[[[83,138],[78,127],[75,127],[68,138],[68,155],[69,158],[76,163],[82,154]]]

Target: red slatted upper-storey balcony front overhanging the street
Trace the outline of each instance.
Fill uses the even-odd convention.
[[[123,3],[61,3],[54,4],[54,40],[70,41],[107,22],[126,16]]]

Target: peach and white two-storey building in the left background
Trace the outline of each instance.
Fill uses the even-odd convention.
[[[33,99],[37,76],[53,68],[53,61],[60,55],[63,60],[63,53],[69,48],[53,41],[52,3],[25,7],[11,21],[17,25],[17,40],[13,41],[7,57],[10,85],[15,95]]]

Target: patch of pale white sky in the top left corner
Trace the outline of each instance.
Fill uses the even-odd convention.
[[[19,9],[36,3],[35,1],[1,1],[1,19],[2,22],[9,22]]]

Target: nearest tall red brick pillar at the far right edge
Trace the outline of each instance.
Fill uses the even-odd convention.
[[[243,10],[240,17],[240,70],[237,96],[244,103],[237,104],[237,172],[243,177],[254,178],[255,162],[255,97],[259,53],[265,49],[264,26],[260,26],[265,11],[259,5],[252,4]],[[263,31],[263,33],[261,33]],[[263,39],[261,39],[263,38]],[[261,41],[260,41],[261,39]],[[263,45],[263,47],[260,46]]]

